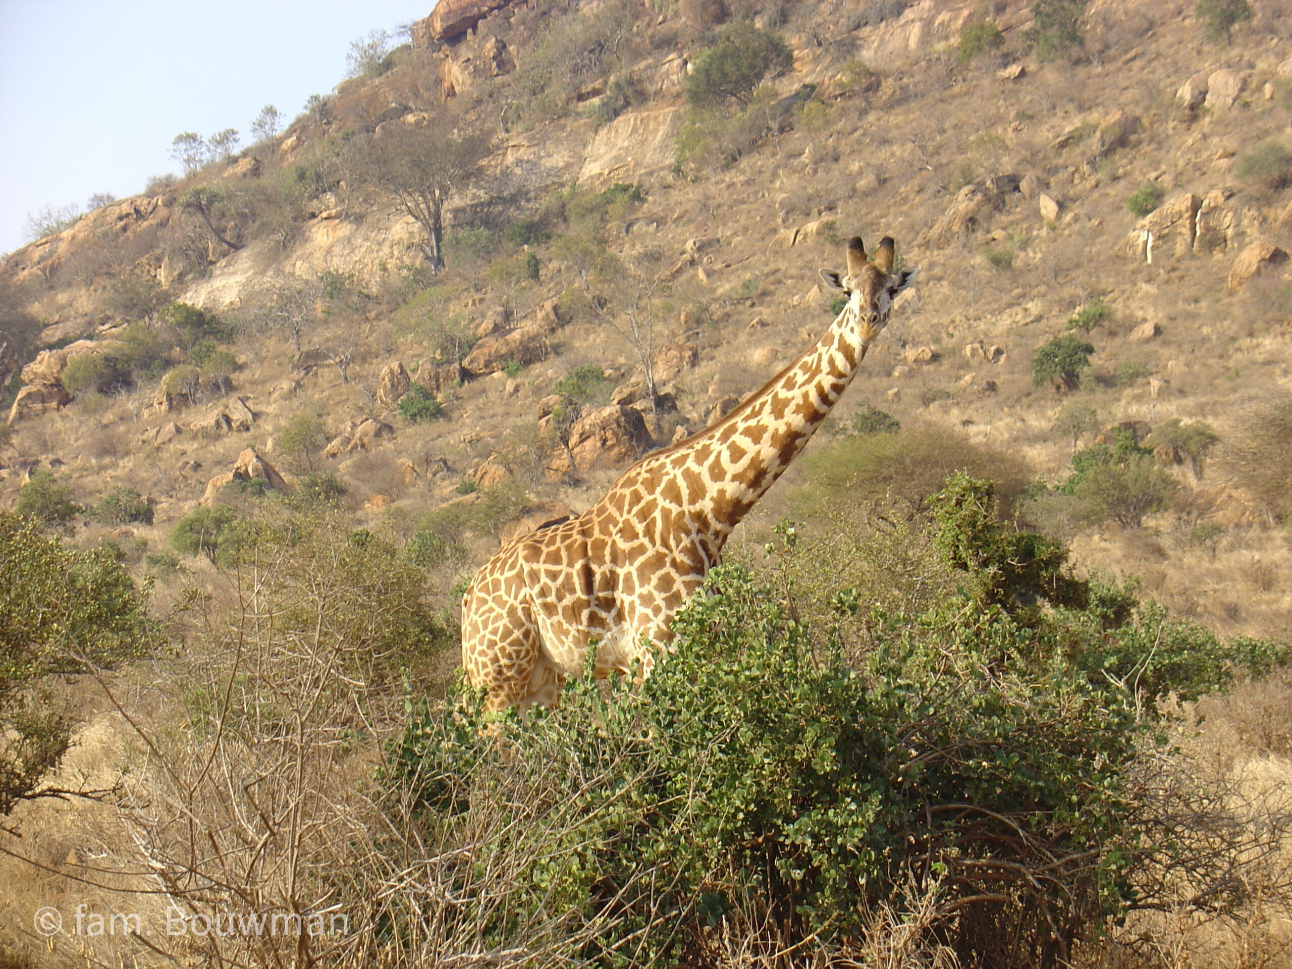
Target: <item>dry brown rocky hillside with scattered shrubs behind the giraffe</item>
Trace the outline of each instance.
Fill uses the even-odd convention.
[[[438,623],[410,620],[420,660],[363,625],[402,659],[359,678],[438,694],[499,540],[738,406],[829,326],[819,270],[846,239],[891,235],[919,283],[733,557],[787,516],[829,535],[841,506],[917,528],[964,468],[1081,581],[1138,576],[1213,640],[1287,640],[1292,4],[1253,0],[1227,37],[1183,0],[1076,6],[1080,43],[1045,19],[1065,4],[1025,0],[441,0],[286,130],[0,261],[0,508],[62,500],[68,545],[154,583],[189,649],[158,676],[191,700],[218,693],[194,686],[203,650],[255,625],[196,603],[253,599],[238,530],[278,521],[278,492],[341,545],[372,537],[366,563],[311,547],[310,567],[389,566],[380,596],[416,584]],[[757,61],[762,36],[788,59],[724,81],[713,52]],[[871,579],[876,601],[902,584]],[[109,761],[138,745],[110,709],[155,726],[180,703],[116,676],[127,703],[78,687]],[[355,789],[395,693],[380,726],[336,727],[363,736]],[[1269,753],[1213,703],[1227,726],[1199,744]],[[1286,783],[1270,749],[1242,783]],[[115,837],[107,811],[43,806],[50,863],[84,818]]]

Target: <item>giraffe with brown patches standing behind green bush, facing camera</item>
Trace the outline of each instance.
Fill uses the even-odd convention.
[[[650,674],[669,621],[742,518],[802,451],[888,323],[919,267],[894,270],[893,239],[846,274],[822,270],[846,305],[824,336],[729,415],[620,475],[578,518],[504,545],[463,597],[463,665],[487,711],[552,707],[597,643],[597,677]]]

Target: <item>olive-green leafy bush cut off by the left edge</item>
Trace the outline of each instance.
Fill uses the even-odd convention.
[[[160,641],[140,589],[106,548],[79,550],[0,512],[0,815],[58,766],[74,720],[53,673],[112,668]]]

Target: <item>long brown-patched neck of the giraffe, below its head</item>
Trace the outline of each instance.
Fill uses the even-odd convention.
[[[842,397],[866,355],[851,307],[795,363],[726,419],[681,446],[689,472],[699,472],[702,494],[687,494],[687,508],[712,523],[725,541],[749,509],[775,483]],[[691,499],[696,499],[694,503]]]

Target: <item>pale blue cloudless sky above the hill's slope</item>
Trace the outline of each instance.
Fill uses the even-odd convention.
[[[27,213],[143,190],[180,132],[265,105],[291,120],[345,76],[350,41],[434,0],[0,0],[0,253]]]

